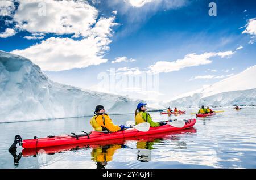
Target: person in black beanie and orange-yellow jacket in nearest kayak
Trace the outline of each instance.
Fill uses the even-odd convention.
[[[96,106],[94,114],[95,115],[90,119],[90,125],[92,125],[95,131],[117,132],[125,128],[124,125],[114,125],[112,119],[105,113],[105,108],[102,105]]]

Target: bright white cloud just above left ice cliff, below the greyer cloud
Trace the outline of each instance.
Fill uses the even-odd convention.
[[[109,50],[111,40],[110,27],[114,25],[114,17],[100,18],[91,29],[92,36],[80,41],[72,38],[51,37],[24,50],[14,50],[11,53],[30,58],[43,70],[61,71],[72,68],[99,65],[108,60],[104,53]],[[109,34],[108,34],[109,33]]]

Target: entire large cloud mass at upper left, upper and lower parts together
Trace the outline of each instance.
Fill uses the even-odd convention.
[[[115,16],[97,17],[98,11],[82,1],[46,0],[46,16],[38,15],[39,0],[21,2],[14,19],[18,28],[31,32],[27,39],[42,39],[47,33],[72,38],[50,37],[23,50],[11,53],[30,58],[44,71],[62,71],[99,65],[112,42]],[[29,12],[29,13],[28,13]],[[96,19],[98,19],[96,21]],[[27,23],[23,23],[26,21]],[[76,40],[73,37],[82,36]],[[85,37],[86,36],[86,37]]]

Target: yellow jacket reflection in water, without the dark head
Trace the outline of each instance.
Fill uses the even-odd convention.
[[[98,148],[94,148],[92,150],[92,153],[90,154],[94,162],[109,162],[109,161],[112,161],[114,152],[120,148],[121,148],[121,145],[119,144],[113,144],[113,145],[110,145],[110,147],[108,146],[98,147]]]

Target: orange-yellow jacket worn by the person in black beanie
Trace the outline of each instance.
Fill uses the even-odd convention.
[[[92,125],[95,131],[102,131],[102,127],[107,128],[110,132],[117,132],[121,130],[118,125],[114,125],[109,115],[104,113],[101,115],[94,115],[90,119],[90,125]]]

